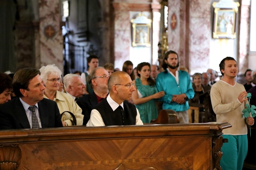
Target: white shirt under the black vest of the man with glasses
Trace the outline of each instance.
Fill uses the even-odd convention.
[[[110,95],[107,97],[108,104],[112,108],[113,111],[115,111],[119,105],[116,103]],[[124,102],[120,104],[120,106],[124,109]],[[140,120],[140,113],[137,110],[137,115],[136,115],[136,124],[135,125],[143,125],[142,121]],[[87,127],[100,127],[100,126],[105,126],[104,121],[100,115],[100,113],[96,109],[92,109],[90,119],[88,123],[86,124]]]

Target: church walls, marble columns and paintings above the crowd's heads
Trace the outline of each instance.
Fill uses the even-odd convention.
[[[216,3],[237,5],[229,17],[232,38],[213,36],[215,27],[230,34],[222,16],[214,18]],[[90,54],[100,66],[122,69],[126,60],[159,64],[164,51],[174,50],[190,75],[208,68],[220,74],[220,61],[234,57],[242,81],[246,69],[256,70],[255,11],[254,0],[1,0],[0,71],[56,64],[65,75],[86,71]]]

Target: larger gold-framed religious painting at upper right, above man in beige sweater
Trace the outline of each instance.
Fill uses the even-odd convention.
[[[236,38],[235,9],[214,9],[213,38]]]

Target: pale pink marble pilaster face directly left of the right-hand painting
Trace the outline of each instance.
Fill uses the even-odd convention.
[[[190,74],[206,71],[210,62],[210,0],[190,0],[188,56]]]

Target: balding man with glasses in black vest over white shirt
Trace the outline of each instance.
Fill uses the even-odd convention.
[[[114,72],[108,79],[108,90],[108,97],[94,107],[86,126],[143,125],[138,109],[128,103],[135,91],[130,76]]]

